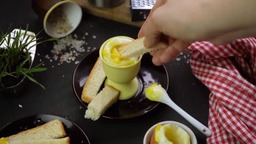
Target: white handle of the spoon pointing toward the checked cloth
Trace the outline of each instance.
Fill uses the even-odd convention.
[[[187,112],[185,112],[177,104],[175,104],[171,99],[168,99],[165,104],[173,108],[176,112],[178,112],[182,117],[184,117],[187,121],[189,121],[189,123],[194,125],[199,131],[201,131],[206,136],[212,135],[212,131],[209,128],[207,128],[205,125],[197,121],[194,117],[190,116]]]

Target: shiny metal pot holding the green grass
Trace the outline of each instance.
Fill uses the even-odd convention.
[[[11,32],[11,37],[13,37],[15,31],[19,31],[19,29],[14,29]],[[24,34],[24,32],[25,30],[21,30],[21,34]],[[32,39],[32,37],[35,37],[35,33],[33,32],[27,31],[27,35],[29,35],[29,40]],[[23,37],[21,36],[21,38]],[[28,47],[34,44],[36,44],[36,42],[30,43]],[[3,45],[5,45],[5,43],[3,43]],[[31,57],[31,62],[29,63],[29,69],[30,69],[35,58],[36,45],[29,50],[29,53]],[[0,88],[0,96],[19,96],[27,88],[27,83],[29,83],[29,80],[27,79],[27,77],[24,76],[22,77],[19,83],[10,87]]]

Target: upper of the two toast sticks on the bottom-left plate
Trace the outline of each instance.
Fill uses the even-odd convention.
[[[66,131],[60,120],[52,120],[36,128],[22,131],[6,137],[9,142],[19,139],[59,139],[66,136]]]

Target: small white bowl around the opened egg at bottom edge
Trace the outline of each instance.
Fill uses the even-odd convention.
[[[197,139],[195,137],[195,134],[186,125],[183,125],[182,123],[178,123],[178,122],[175,122],[175,121],[164,121],[164,122],[157,123],[157,124],[160,124],[160,125],[165,125],[165,124],[177,125],[180,128],[184,129],[184,131],[186,131],[189,134],[191,144],[197,144]],[[155,133],[155,127],[157,126],[157,124],[155,124],[151,128],[149,128],[149,130],[147,131],[147,133],[144,136],[143,144],[150,144],[151,137]]]

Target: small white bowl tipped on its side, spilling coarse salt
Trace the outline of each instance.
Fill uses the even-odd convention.
[[[55,8],[57,8],[60,5],[63,6],[63,12],[67,15],[67,19],[69,19],[70,24],[72,25],[72,29],[70,29],[67,33],[61,34],[57,33],[56,28],[52,27],[51,24],[48,23],[48,16]],[[43,27],[45,29],[45,32],[51,37],[65,37],[77,28],[77,26],[80,24],[81,19],[82,8],[77,3],[71,0],[64,0],[59,3],[56,3],[47,11],[43,20]]]

